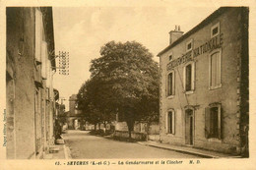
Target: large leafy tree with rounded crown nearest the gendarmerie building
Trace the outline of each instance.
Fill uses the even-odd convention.
[[[135,120],[159,115],[158,63],[135,41],[110,41],[101,47],[100,55],[90,69],[91,102],[106,115],[123,114],[131,138]]]

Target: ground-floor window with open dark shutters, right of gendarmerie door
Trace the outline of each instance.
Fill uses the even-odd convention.
[[[213,104],[205,111],[205,133],[206,138],[222,139],[221,129],[221,104]]]

